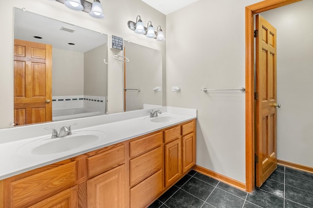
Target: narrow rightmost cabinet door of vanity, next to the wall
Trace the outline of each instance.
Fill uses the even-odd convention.
[[[182,137],[182,172],[190,170],[196,164],[196,142],[194,133]]]

